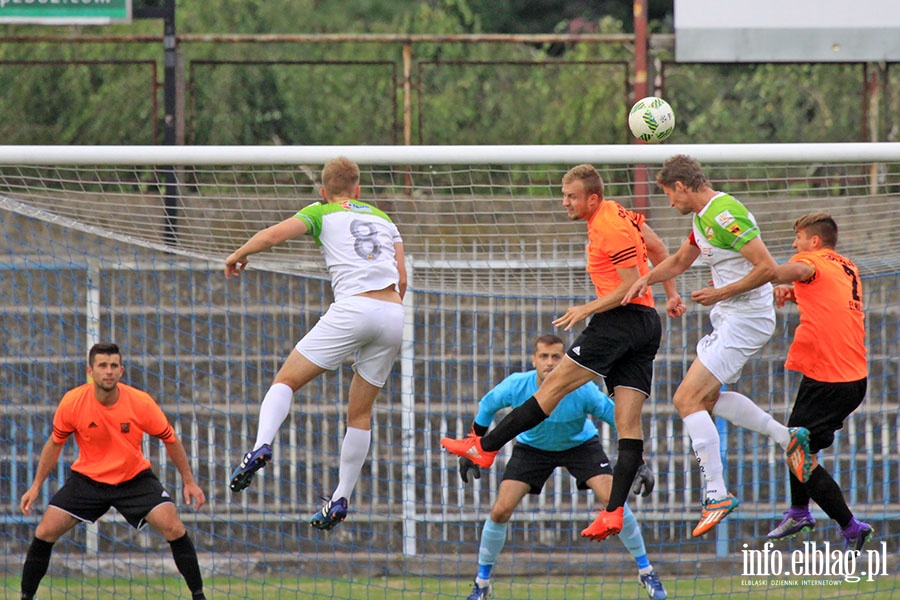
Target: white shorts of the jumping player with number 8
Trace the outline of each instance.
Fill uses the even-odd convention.
[[[297,352],[333,371],[356,353],[353,370],[383,387],[403,339],[403,305],[350,296],[328,307],[319,322],[297,342]]]

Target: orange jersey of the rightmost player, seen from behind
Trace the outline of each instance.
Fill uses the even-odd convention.
[[[784,366],[826,383],[863,379],[868,365],[856,265],[830,248],[799,252],[791,262],[808,264],[816,273],[794,282],[800,325]]]

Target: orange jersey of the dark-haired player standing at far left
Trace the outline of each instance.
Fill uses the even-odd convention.
[[[150,468],[141,451],[144,433],[171,442],[175,431],[149,394],[118,384],[119,400],[103,406],[86,383],[66,392],[53,416],[53,441],[75,434],[78,458],[72,470],[94,481],[118,484]]]

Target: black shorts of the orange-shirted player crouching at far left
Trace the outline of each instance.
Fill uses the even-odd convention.
[[[163,502],[172,502],[172,498],[153,471],[147,469],[117,485],[100,483],[72,471],[49,504],[91,523],[115,508],[132,527],[140,529],[146,525],[144,519],[150,511]]]

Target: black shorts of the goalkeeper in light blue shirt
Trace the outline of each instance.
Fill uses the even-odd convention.
[[[565,467],[575,478],[579,490],[588,489],[587,480],[592,477],[612,475],[609,457],[600,445],[600,438],[595,437],[580,446],[558,452],[538,450],[516,442],[501,481],[521,481],[531,486],[528,493],[540,494],[556,467]]]

